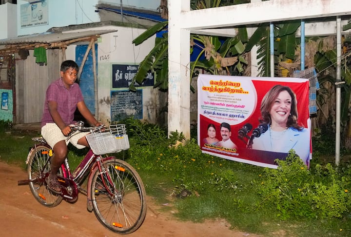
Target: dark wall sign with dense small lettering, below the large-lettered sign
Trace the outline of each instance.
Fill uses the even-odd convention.
[[[142,119],[142,90],[111,91],[111,121]]]

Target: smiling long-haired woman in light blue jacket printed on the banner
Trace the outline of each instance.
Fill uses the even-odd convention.
[[[268,130],[253,140],[253,149],[288,153],[291,149],[309,164],[310,133],[299,126],[297,100],[288,86],[275,85],[261,102],[260,123],[268,124]]]

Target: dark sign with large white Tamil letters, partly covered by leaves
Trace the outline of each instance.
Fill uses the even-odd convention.
[[[113,64],[112,65],[112,87],[113,88],[123,88],[129,87],[132,83],[132,79],[137,74],[139,65],[126,65],[126,64]],[[146,78],[141,83],[135,83],[137,86],[153,86],[154,85],[154,74],[150,71],[148,72]]]

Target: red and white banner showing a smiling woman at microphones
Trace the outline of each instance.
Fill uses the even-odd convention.
[[[308,79],[201,74],[197,92],[203,153],[276,168],[294,150],[309,165]]]

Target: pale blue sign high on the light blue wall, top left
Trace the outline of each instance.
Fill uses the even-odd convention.
[[[48,0],[38,0],[20,5],[21,28],[48,25]]]

